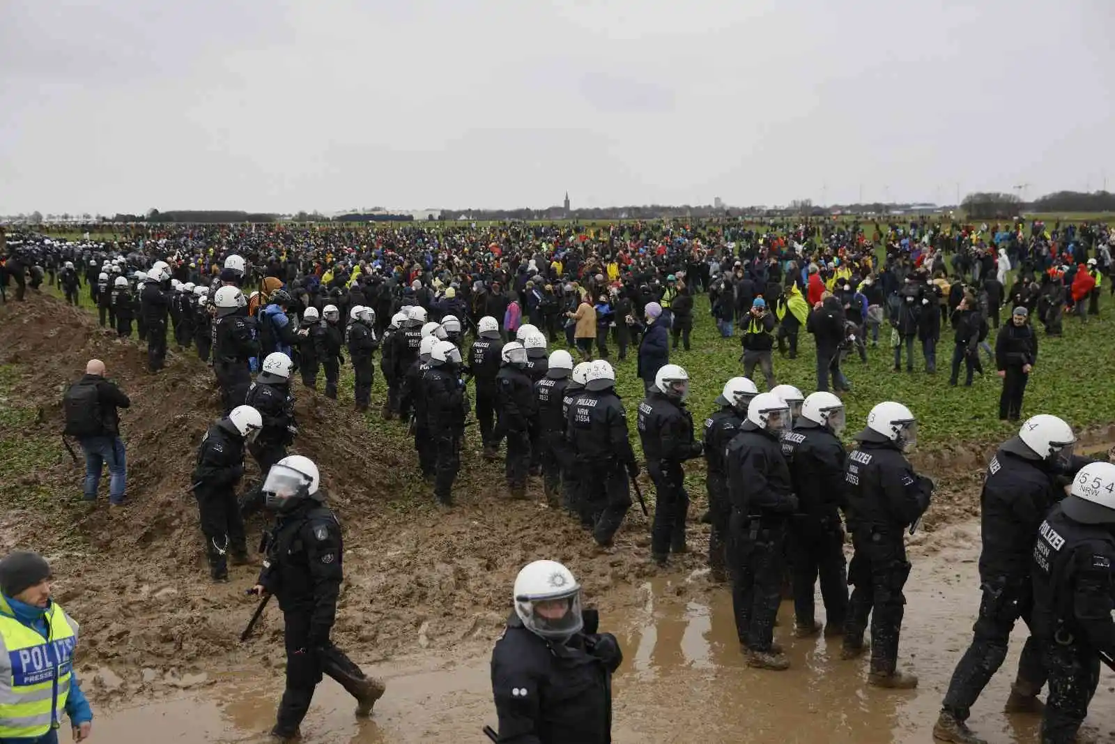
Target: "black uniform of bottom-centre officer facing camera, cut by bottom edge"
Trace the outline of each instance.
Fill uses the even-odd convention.
[[[512,613],[492,650],[498,741],[507,744],[608,744],[612,674],[623,661],[615,637],[585,628],[565,642],[546,640]]]

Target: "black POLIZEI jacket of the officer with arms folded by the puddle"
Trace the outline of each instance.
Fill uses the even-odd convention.
[[[844,466],[847,526],[901,539],[901,531],[929,508],[933,482],[914,473],[899,447],[882,434],[867,429],[856,438],[859,445],[847,454]]]

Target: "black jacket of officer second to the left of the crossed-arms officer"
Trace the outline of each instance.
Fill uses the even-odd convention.
[[[789,467],[775,435],[750,421],[725,451],[731,508],[752,516],[789,516],[797,511]]]

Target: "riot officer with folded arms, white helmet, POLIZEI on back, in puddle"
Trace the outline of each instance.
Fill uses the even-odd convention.
[[[854,589],[841,656],[851,659],[863,653],[870,615],[869,684],[910,689],[918,686],[918,677],[896,669],[902,587],[910,576],[903,533],[929,508],[933,482],[917,474],[902,454],[918,441],[918,422],[901,403],[886,400],[872,408],[855,441],[844,470],[854,548],[847,582]]]

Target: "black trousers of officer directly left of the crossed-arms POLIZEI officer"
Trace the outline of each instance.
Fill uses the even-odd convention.
[[[844,560],[844,529],[833,509],[826,514],[795,516],[789,525],[791,586],[797,625],[809,627],[815,617],[813,588],[821,579],[825,624],[843,628],[847,619],[847,563]]]

